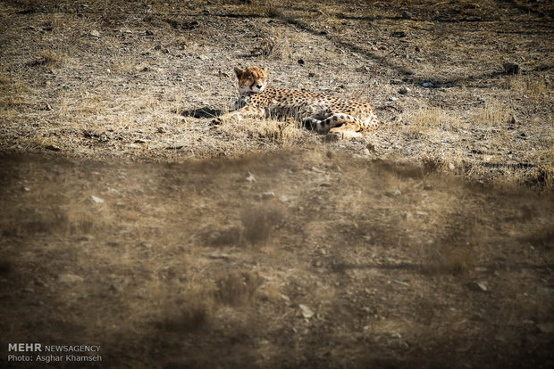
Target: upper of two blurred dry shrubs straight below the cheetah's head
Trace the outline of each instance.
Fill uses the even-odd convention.
[[[240,220],[244,226],[243,237],[250,244],[266,242],[273,229],[281,222],[281,212],[276,209],[244,209]]]

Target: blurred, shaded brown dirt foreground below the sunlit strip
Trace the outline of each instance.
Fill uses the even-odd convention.
[[[9,340],[109,366],[554,359],[551,195],[342,152],[1,168]]]

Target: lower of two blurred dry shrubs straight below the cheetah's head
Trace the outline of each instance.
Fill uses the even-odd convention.
[[[254,298],[262,282],[257,273],[234,272],[219,279],[215,296],[225,304],[246,305]]]

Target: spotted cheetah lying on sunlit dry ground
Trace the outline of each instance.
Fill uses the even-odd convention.
[[[377,127],[369,103],[268,86],[268,74],[259,67],[234,70],[239,79],[239,100],[235,111],[214,119],[214,125],[229,119],[293,117],[321,134],[345,135]]]

